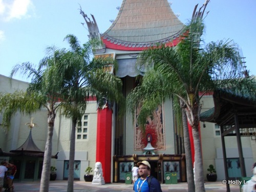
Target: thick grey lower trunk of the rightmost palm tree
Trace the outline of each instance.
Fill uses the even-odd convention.
[[[194,124],[199,124],[198,122],[194,122]],[[202,148],[201,148],[201,138],[198,126],[192,127],[192,133],[194,138],[194,146],[195,146],[195,185],[196,191],[205,192],[204,187],[204,172],[203,172],[203,158],[202,158]]]

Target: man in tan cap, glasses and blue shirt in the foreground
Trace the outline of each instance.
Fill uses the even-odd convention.
[[[140,178],[134,184],[135,192],[162,192],[160,183],[152,176],[151,165],[148,161],[138,162]],[[149,184],[148,184],[149,183]]]

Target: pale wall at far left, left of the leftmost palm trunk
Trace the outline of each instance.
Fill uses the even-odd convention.
[[[26,90],[28,82],[12,79],[9,77],[0,75],[0,91],[2,93],[13,93],[15,91]],[[7,133],[0,129],[0,147],[3,151],[9,152],[10,150],[16,150],[21,146],[28,138],[30,129],[25,125],[31,121],[31,117],[34,118],[33,122],[37,124],[32,129],[32,138],[37,147],[44,151],[47,133],[47,111],[42,109],[31,115],[20,114],[17,112],[11,119],[10,129]],[[2,115],[0,114],[0,123],[2,122]]]

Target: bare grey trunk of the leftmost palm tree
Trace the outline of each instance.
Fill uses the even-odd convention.
[[[55,114],[48,114],[48,136],[46,141],[46,148],[44,154],[44,161],[42,163],[42,174],[40,181],[40,192],[49,191],[49,182],[50,182],[50,166],[51,166],[51,157],[52,157],[52,135],[54,127]]]

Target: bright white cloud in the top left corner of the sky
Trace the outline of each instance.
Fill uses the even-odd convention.
[[[21,19],[30,17],[29,11],[34,6],[31,0],[0,0],[0,14],[6,22],[13,18]]]

